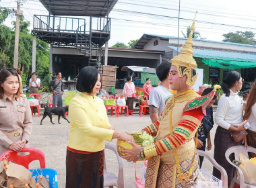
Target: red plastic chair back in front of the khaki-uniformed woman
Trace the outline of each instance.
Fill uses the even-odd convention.
[[[29,152],[29,154],[26,155],[20,155],[21,152]],[[39,160],[40,162],[40,168],[45,169],[45,157],[44,153],[41,150],[35,149],[35,148],[23,148],[21,152],[15,152],[13,150],[7,150],[0,156],[0,160],[2,158],[6,157],[7,160],[13,161],[17,164],[22,165],[26,169],[28,169],[28,165],[30,162],[34,160]]]

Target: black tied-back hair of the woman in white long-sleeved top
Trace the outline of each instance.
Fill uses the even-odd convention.
[[[239,81],[240,78],[241,78],[241,73],[238,73],[236,71],[228,72],[228,74],[226,75],[226,78],[223,79],[223,83],[222,83],[222,90],[223,90],[223,93],[226,94],[226,97],[229,97],[230,88],[232,87],[232,85],[234,85],[234,83],[236,83],[236,81]]]

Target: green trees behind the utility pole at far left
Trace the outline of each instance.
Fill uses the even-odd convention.
[[[13,30],[5,25],[3,21],[11,11],[0,7],[0,65],[13,67],[14,40],[15,40],[15,21]],[[33,37],[29,31],[30,22],[20,19],[20,39],[19,39],[19,58],[18,67],[22,71],[22,81],[28,81],[31,77],[32,69],[32,41]],[[49,79],[49,44],[42,40],[36,40],[36,72],[38,78],[42,80],[42,85],[48,85]]]

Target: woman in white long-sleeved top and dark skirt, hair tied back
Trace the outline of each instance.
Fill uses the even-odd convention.
[[[218,101],[215,116],[215,123],[218,125],[218,128],[214,138],[214,159],[226,170],[228,185],[230,185],[236,169],[226,160],[225,152],[232,146],[241,145],[246,139],[243,138],[243,141],[234,142],[230,135],[230,132],[245,130],[243,127],[243,100],[237,95],[237,91],[242,89],[242,85],[241,73],[230,71],[226,75],[222,83],[224,94]],[[231,161],[233,159],[230,158]],[[220,179],[220,171],[216,168],[213,170],[213,175]]]

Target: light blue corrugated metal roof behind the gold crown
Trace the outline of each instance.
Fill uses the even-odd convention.
[[[194,40],[194,39],[193,39]],[[176,46],[168,46],[173,50],[177,50]],[[181,47],[179,47],[179,52]],[[199,58],[213,58],[218,60],[236,60],[236,61],[247,61],[247,62],[256,62],[256,54],[244,54],[238,52],[224,52],[218,50],[202,50],[202,49],[194,49],[193,50],[194,57]]]

